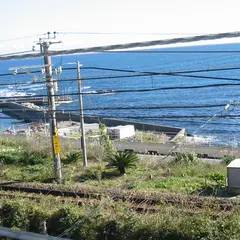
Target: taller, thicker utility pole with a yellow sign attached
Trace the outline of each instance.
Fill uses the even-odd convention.
[[[56,144],[54,144],[54,137],[58,139],[57,122],[56,122],[56,104],[54,97],[54,82],[52,78],[52,65],[51,57],[48,55],[49,43],[43,42],[42,44],[44,54],[44,64],[46,73],[46,84],[48,89],[48,104],[49,104],[49,116],[50,116],[50,134],[52,142],[52,155],[54,159],[54,175],[57,183],[62,182],[62,168],[61,160]]]

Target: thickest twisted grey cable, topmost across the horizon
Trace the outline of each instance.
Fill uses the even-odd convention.
[[[206,34],[206,35],[198,35],[198,36],[191,36],[191,37],[164,39],[164,40],[133,42],[133,43],[127,43],[127,44],[114,44],[114,45],[108,45],[108,46],[77,48],[77,49],[70,49],[70,50],[51,51],[49,52],[49,54],[52,56],[56,56],[56,55],[68,55],[68,54],[75,54],[75,53],[104,52],[104,51],[112,51],[112,50],[131,49],[136,47],[151,47],[151,46],[157,46],[157,45],[189,43],[189,42],[198,42],[203,40],[217,40],[217,39],[223,39],[223,38],[236,38],[236,37],[240,37],[240,32],[226,32],[226,33]],[[0,60],[33,58],[33,57],[40,57],[40,56],[41,54],[12,55],[12,56],[0,57]]]

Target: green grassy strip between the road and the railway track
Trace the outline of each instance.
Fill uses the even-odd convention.
[[[32,143],[27,145],[21,142],[20,145],[15,145],[15,143],[11,144],[4,140],[3,145],[0,146],[0,149],[4,149],[0,154],[0,179],[35,182],[48,182],[52,179],[51,152],[46,146],[36,149],[37,147],[38,145],[35,145],[34,148]],[[119,189],[189,194],[197,193],[199,189],[224,187],[225,183],[225,164],[203,162],[197,159],[194,153],[179,154],[173,157],[172,161],[165,163],[161,160],[153,162],[133,159],[134,164],[131,163],[130,166],[135,166],[135,168],[127,168],[128,162],[125,161],[125,156],[117,155],[121,161],[115,161],[114,158],[117,164],[115,162],[110,164],[112,168],[107,168],[108,163],[102,158],[100,161],[99,158],[97,161],[89,160],[89,167],[84,169],[81,154],[76,151],[69,152],[69,149],[71,149],[70,146],[66,148],[66,152],[62,152],[65,184],[84,182],[89,186],[101,186],[102,188],[114,186]],[[123,163],[126,169],[124,169],[125,175],[121,176],[119,166]],[[221,186],[216,179],[220,175]]]

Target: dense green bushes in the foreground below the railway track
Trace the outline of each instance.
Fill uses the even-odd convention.
[[[82,207],[53,199],[0,199],[0,220],[4,227],[73,240],[240,239],[238,211],[213,217],[208,209],[186,212],[163,205],[157,213],[140,214],[109,199]]]

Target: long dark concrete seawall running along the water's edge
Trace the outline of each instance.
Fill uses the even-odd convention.
[[[0,103],[0,108],[2,112],[10,117],[23,119],[26,122],[38,122],[38,121],[46,121],[48,120],[48,114],[43,110],[37,110],[30,107],[23,106],[18,103]],[[58,121],[76,121],[79,122],[80,118],[77,114],[70,113],[57,113],[56,114]],[[179,135],[184,135],[185,129],[171,127],[171,126],[162,126],[150,123],[141,123],[135,121],[127,121],[120,119],[109,119],[109,118],[96,118],[85,116],[84,121],[86,123],[104,123],[106,126],[112,127],[117,125],[134,125],[135,129],[140,131],[154,131],[165,133],[166,135],[173,137],[176,139]]]

